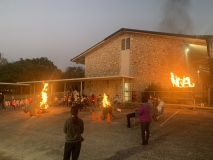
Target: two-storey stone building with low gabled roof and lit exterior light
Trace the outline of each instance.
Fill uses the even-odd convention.
[[[172,87],[171,72],[197,83],[198,73],[210,73],[212,44],[212,36],[122,28],[71,61],[85,65],[84,94],[130,101],[152,83]]]

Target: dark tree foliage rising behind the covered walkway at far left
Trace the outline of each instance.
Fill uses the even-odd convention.
[[[0,67],[1,82],[23,82],[59,79],[62,76],[53,62],[46,57],[7,63]]]

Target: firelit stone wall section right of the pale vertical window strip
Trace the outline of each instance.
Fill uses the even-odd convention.
[[[172,87],[170,73],[189,76],[183,41],[176,37],[131,35],[131,88],[143,91],[150,84]]]

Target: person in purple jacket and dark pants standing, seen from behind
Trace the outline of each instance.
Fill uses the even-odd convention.
[[[148,99],[146,97],[142,97],[142,104],[140,104],[138,108],[139,122],[141,123],[141,134],[142,134],[142,145],[148,145],[149,136],[150,136],[150,106],[148,104]],[[146,132],[146,134],[145,134]]]

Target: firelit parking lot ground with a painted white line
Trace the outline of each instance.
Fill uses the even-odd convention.
[[[30,118],[22,110],[0,109],[0,160],[63,159],[63,125],[69,107],[50,107],[41,117]],[[164,121],[151,128],[148,146],[141,145],[140,124],[126,129],[126,113],[115,112],[111,122],[91,120],[80,112],[85,124],[79,160],[210,160],[213,159],[213,110],[166,106]]]

